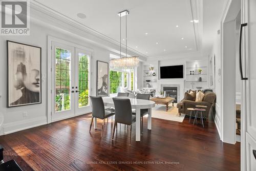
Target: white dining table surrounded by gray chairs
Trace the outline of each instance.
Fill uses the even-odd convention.
[[[127,97],[116,97],[116,98],[127,98]],[[113,97],[103,97],[103,102],[105,106],[115,107],[113,102]],[[152,118],[152,108],[155,107],[155,102],[151,100],[135,99],[129,98],[131,101],[132,109],[136,110],[136,141],[140,141],[140,110],[148,109],[147,116],[147,129],[151,130],[151,118]],[[94,120],[94,125],[97,125],[97,120]]]

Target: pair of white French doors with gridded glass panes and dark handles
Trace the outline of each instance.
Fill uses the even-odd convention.
[[[90,112],[92,52],[52,42],[52,121]]]

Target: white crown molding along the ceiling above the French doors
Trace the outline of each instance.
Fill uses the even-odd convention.
[[[30,2],[31,18],[38,20],[38,23],[44,22],[49,25],[64,29],[73,34],[77,34],[87,39],[90,43],[104,49],[108,49],[114,53],[120,53],[120,42],[108,37],[76,20],[63,15],[38,1]],[[125,53],[125,45],[121,44],[121,51]],[[140,60],[146,61],[147,56],[127,47],[127,54],[131,56],[139,56]]]

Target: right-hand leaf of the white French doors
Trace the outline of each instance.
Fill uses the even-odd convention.
[[[76,48],[76,115],[87,113],[90,107],[90,65],[92,54]]]

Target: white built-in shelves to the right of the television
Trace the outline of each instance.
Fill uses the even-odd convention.
[[[200,73],[198,69],[202,69]],[[190,72],[191,71],[191,72]],[[193,74],[194,71],[194,74]],[[194,60],[186,61],[186,77],[184,80],[184,91],[207,89],[208,85],[208,61],[207,60]],[[190,74],[191,73],[191,74]],[[201,77],[201,81],[199,78]],[[198,88],[197,88],[198,87]],[[202,87],[202,88],[200,88]]]

